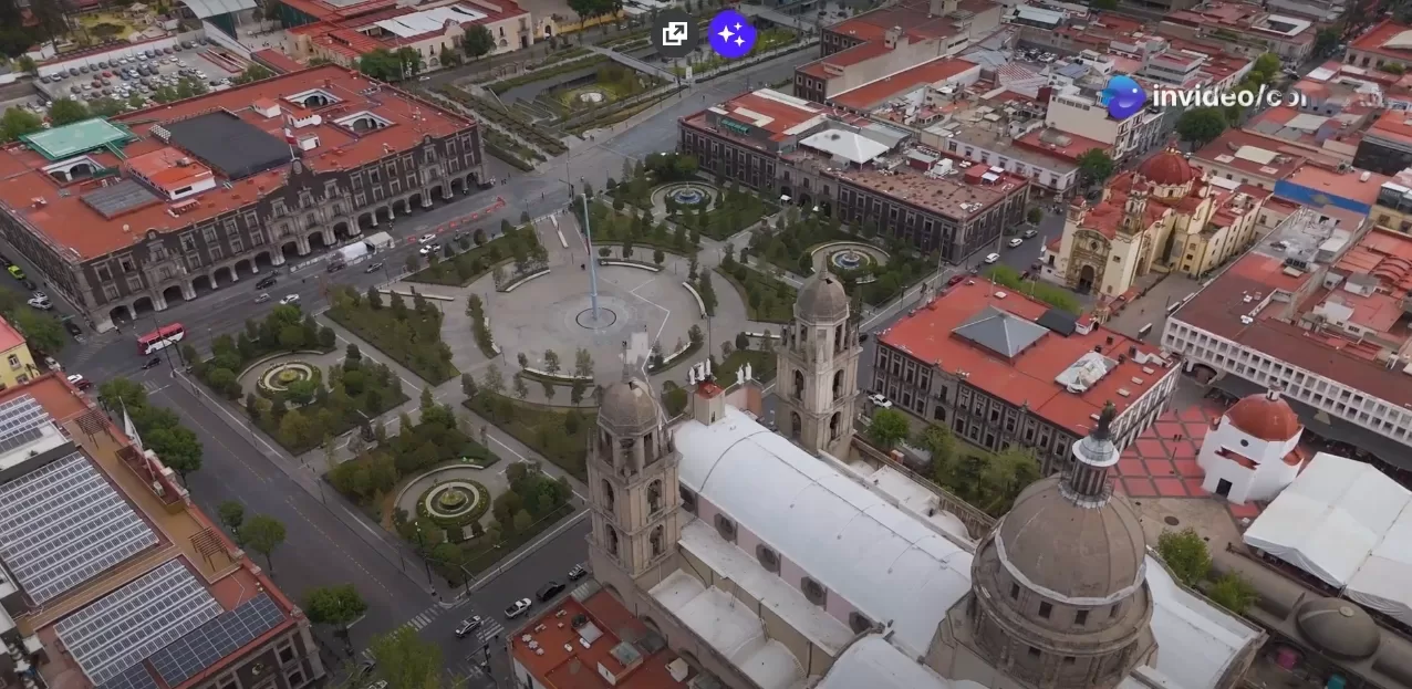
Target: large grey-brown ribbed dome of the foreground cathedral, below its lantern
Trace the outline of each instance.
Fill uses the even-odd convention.
[[[1075,500],[1063,480],[1035,481],[1000,522],[995,541],[1011,572],[1065,599],[1106,599],[1141,583],[1147,537],[1132,505],[1117,496]]]

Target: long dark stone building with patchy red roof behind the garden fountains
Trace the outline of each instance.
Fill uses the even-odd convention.
[[[681,120],[678,148],[765,196],[873,226],[947,263],[991,250],[1024,222],[1029,179],[962,169],[915,134],[761,89]]]

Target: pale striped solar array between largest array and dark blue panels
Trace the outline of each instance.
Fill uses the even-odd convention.
[[[55,631],[102,685],[217,616],[220,603],[181,561],[169,561],[65,617]]]

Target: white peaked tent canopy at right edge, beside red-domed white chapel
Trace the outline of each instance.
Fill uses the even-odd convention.
[[[1412,624],[1412,491],[1370,465],[1319,453],[1245,531],[1245,545]]]

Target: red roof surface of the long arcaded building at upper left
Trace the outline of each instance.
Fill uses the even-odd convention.
[[[357,168],[385,157],[384,147],[391,151],[408,151],[418,145],[424,136],[448,137],[474,126],[466,117],[441,110],[438,106],[417,100],[387,85],[378,86],[377,100],[373,100],[363,92],[374,85],[376,82],[357,72],[325,65],[137,110],[116,117],[113,121],[126,124],[141,137],[123,150],[128,161],[134,161],[143,160],[145,154],[168,148],[168,144],[148,136],[154,126],[222,109],[274,137],[282,138],[281,130],[285,126],[282,114],[265,119],[251,109],[256,100],[277,100],[284,113],[295,117],[302,119],[316,113],[323,116],[321,124],[299,128],[299,134],[319,136],[318,148],[304,151],[302,161],[308,168],[321,172]],[[284,96],[311,89],[328,90],[342,103],[309,110],[284,100]],[[388,120],[391,126],[354,136],[332,121],[339,114],[353,114],[360,110],[373,112]],[[88,157],[113,169],[120,168],[124,162],[103,150],[89,152]],[[42,168],[47,165],[49,165],[48,160],[24,145],[14,144],[0,150],[0,202],[49,240],[71,248],[82,260],[128,247],[148,229],[157,232],[178,230],[250,205],[282,185],[285,175],[285,168],[275,168],[234,181],[229,189],[217,186],[193,196],[198,203],[195,208],[184,210],[181,216],[168,212],[165,203],[155,203],[107,220],[80,199],[83,193],[100,185],[102,181],[61,184],[44,172]]]

